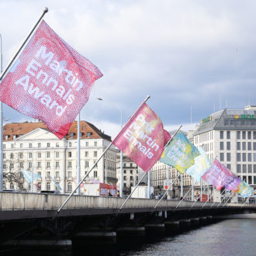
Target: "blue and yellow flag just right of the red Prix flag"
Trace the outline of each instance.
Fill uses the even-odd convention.
[[[199,156],[199,154],[199,150],[181,131],[178,131],[168,147],[165,148],[160,161],[184,173],[195,164],[194,158]]]

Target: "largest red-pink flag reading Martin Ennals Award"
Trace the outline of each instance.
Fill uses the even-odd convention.
[[[0,86],[0,100],[42,120],[62,139],[102,77],[42,21]]]

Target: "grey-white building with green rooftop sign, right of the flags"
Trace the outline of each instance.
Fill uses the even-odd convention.
[[[214,112],[197,126],[194,142],[256,188],[256,106]]]

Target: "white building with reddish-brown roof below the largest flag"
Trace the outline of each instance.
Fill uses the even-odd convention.
[[[111,137],[102,133],[92,123],[81,121],[81,178],[111,143]],[[72,123],[67,136],[59,140],[43,123],[8,123],[4,126],[3,168],[4,189],[30,191],[30,185],[21,169],[41,176],[33,191],[55,190],[54,178],[61,192],[71,192],[77,185],[78,144],[77,122]],[[105,175],[107,177],[105,177]],[[116,147],[111,146],[87,182],[116,184]],[[81,187],[81,194],[83,188]]]

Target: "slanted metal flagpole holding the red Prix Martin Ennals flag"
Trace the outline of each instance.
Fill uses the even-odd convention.
[[[142,106],[144,106],[144,104],[147,102],[147,100],[150,99],[150,96],[147,95],[146,99],[144,99],[144,102],[142,102],[142,104],[139,106],[139,108],[137,109],[137,111],[133,114],[133,116],[136,116],[137,115],[137,112],[140,111],[140,109],[142,108]],[[126,125],[123,127],[123,130],[126,129],[127,126],[130,125],[130,123],[132,122],[133,120],[133,116],[129,119],[129,121],[126,123]],[[92,171],[93,168],[95,168],[95,166],[99,163],[99,161],[102,159],[102,157],[106,154],[106,151],[109,150],[109,147],[112,146],[113,142],[120,136],[120,134],[122,133],[121,130],[116,138],[114,140],[112,140],[112,142],[109,144],[108,147],[106,147],[106,150],[104,150],[104,152],[102,153],[102,155],[99,157],[99,159],[97,161],[95,161],[95,164],[93,164],[92,168],[90,169],[90,171],[88,171],[88,173],[85,175],[84,178],[81,179],[81,181],[79,182],[79,184],[77,185],[77,187],[73,190],[73,192],[71,192],[71,194],[67,197],[67,199],[65,200],[65,202],[62,204],[62,206],[57,209],[57,213],[60,213],[61,212],[61,209],[66,205],[66,203],[68,202],[68,200],[71,198],[72,195],[74,195],[74,192],[76,192],[76,190],[78,189],[78,187],[81,185],[81,182],[83,182],[85,180],[85,178],[87,178],[87,176],[90,174],[90,172]]]

